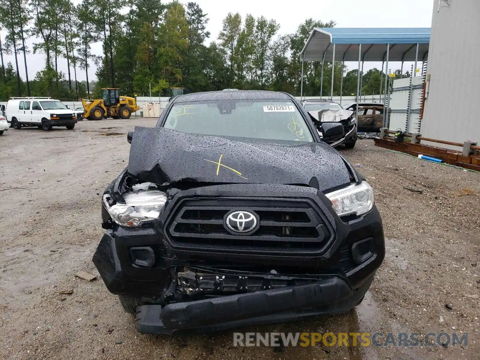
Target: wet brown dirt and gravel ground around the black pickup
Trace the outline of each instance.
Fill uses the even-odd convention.
[[[239,331],[467,332],[467,347],[234,348],[232,331],[139,334],[101,279],[74,274],[98,276],[100,194],[127,165],[128,130],[155,122],[0,136],[0,359],[479,359],[480,174],[372,140],[340,150],[372,184],[384,222],[386,257],[366,299],[348,314]]]

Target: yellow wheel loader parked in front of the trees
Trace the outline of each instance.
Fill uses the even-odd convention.
[[[102,98],[95,100],[82,99],[84,119],[102,120],[107,118],[129,119],[132,112],[140,109],[135,98],[120,96],[120,89],[104,87]]]

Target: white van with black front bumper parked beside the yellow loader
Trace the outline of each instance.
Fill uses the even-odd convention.
[[[22,126],[37,126],[43,130],[65,126],[71,130],[77,123],[75,111],[49,97],[12,97],[8,100],[5,117],[17,130]]]

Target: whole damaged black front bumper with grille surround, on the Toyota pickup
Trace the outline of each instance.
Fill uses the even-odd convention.
[[[215,242],[201,246],[171,239],[168,224],[185,197],[225,199],[245,193],[261,193],[261,199],[276,198],[281,193],[290,199],[308,200],[324,217],[331,236],[322,240],[322,247],[309,251],[225,248]],[[358,218],[340,219],[327,202],[324,194],[313,188],[290,185],[277,185],[275,189],[261,184],[216,185],[180,191],[152,226],[122,228],[113,224],[100,241],[93,262],[111,293],[129,295],[147,304],[137,308],[141,332],[215,331],[345,312],[360,301],[383,262],[382,221],[375,206]],[[368,242],[371,253],[359,258],[356,249],[363,241]],[[135,264],[135,247],[151,249],[154,261],[148,266]],[[239,283],[230,282],[225,292],[213,295],[204,291],[206,287],[193,294],[181,292],[177,276],[184,267],[196,271],[197,280],[201,280],[200,273],[210,272],[214,278],[224,274],[225,281],[230,277]],[[272,287],[265,286],[270,284],[269,276]],[[285,283],[277,282],[275,288],[273,280],[277,276]]]

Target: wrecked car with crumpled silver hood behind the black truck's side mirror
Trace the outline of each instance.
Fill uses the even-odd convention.
[[[332,99],[308,99],[301,101],[302,106],[312,116],[313,122],[321,125],[324,122],[339,122],[343,125],[344,136],[335,141],[327,141],[333,147],[345,144],[352,149],[357,143],[357,119],[355,112],[343,109]]]

